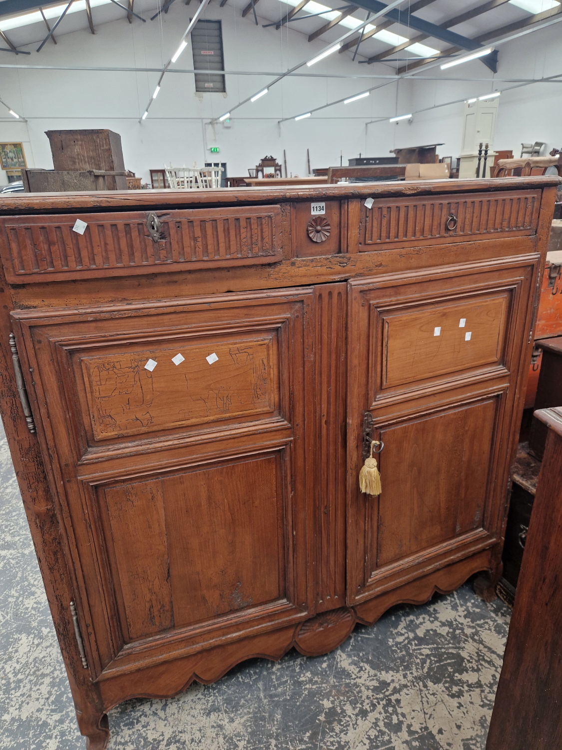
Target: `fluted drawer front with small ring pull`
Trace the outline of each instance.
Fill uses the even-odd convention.
[[[375,199],[370,208],[361,200],[359,251],[533,235],[539,208],[540,190]]]

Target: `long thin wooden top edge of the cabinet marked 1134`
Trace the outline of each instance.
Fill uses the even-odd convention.
[[[100,193],[12,193],[0,196],[0,215],[47,211],[80,211],[103,208],[193,207],[240,205],[294,200],[373,198],[384,196],[440,195],[447,193],[498,192],[540,188],[561,183],[558,176],[507,177],[501,179],[432,180],[300,185],[298,187],[222,187],[217,190],[107,190]]]

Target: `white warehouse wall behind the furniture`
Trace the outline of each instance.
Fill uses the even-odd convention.
[[[146,0],[145,7],[151,1]],[[135,7],[142,0],[137,0]],[[233,5],[234,4],[234,5]],[[419,145],[443,141],[441,156],[456,157],[460,150],[462,104],[442,107],[414,116],[410,124],[399,125],[382,121],[366,126],[377,117],[416,111],[432,104],[469,98],[494,89],[492,74],[475,61],[441,71],[434,68],[430,75],[478,77],[480,83],[460,81],[402,80],[372,92],[353,104],[339,104],[321,110],[303,121],[284,122],[326,102],[363,91],[375,85],[365,79],[327,79],[290,77],[277,84],[255,104],[241,107],[232,116],[232,127],[204,125],[209,118],[229,110],[238,101],[259,91],[274,76],[291,65],[311,57],[325,48],[321,40],[308,43],[306,35],[293,29],[262,28],[253,23],[252,14],[241,17],[246,0],[229,0],[223,8],[214,1],[206,17],[223,21],[223,43],[226,68],[238,71],[264,71],[265,75],[226,78],[226,96],[195,94],[193,74],[166,74],[163,88],[151,107],[148,118],[139,124],[149,98],[154,92],[158,73],[119,71],[52,71],[7,70],[0,81],[0,96],[16,112],[27,118],[27,124],[9,118],[0,120],[0,140],[24,143],[29,166],[52,168],[49,142],[44,135],[49,129],[105,127],[121,134],[125,166],[149,181],[150,168],[161,168],[164,162],[200,166],[205,160],[226,161],[229,175],[246,175],[266,154],[282,161],[287,154],[288,171],[306,175],[306,148],[310,151],[312,168],[343,163],[360,152],[385,156],[395,146]],[[114,7],[114,6],[113,6]],[[281,6],[280,7],[284,7]],[[259,6],[258,6],[259,9]],[[108,11],[109,12],[109,11]],[[76,14],[77,16],[78,14]],[[150,13],[145,12],[145,17]],[[95,11],[94,11],[95,16]],[[22,65],[100,66],[125,68],[161,68],[175,51],[178,40],[189,23],[189,10],[184,2],[174,3],[162,23],[134,21],[127,23],[124,13],[117,20],[97,24],[97,34],[82,28],[58,34],[58,44],[47,43],[40,53],[37,44],[26,49],[30,56],[15,58],[0,53],[0,62]],[[561,26],[552,26],[498,47],[499,68],[496,78],[537,77],[562,73]],[[44,30],[37,28],[37,38]],[[175,68],[193,68],[190,46],[185,49]],[[388,65],[357,65],[351,52],[335,54],[319,62],[309,72],[327,71],[336,74],[391,74]],[[302,69],[299,72],[303,72]],[[383,82],[381,82],[383,83]],[[505,89],[510,83],[497,83]],[[398,91],[397,91],[398,88]],[[535,84],[504,92],[496,127],[496,148],[513,148],[519,155],[520,142],[544,140],[548,150],[562,145],[562,84]],[[205,132],[205,135],[204,135]],[[205,148],[218,145],[220,154],[211,157]],[[0,181],[6,181],[0,172]]]

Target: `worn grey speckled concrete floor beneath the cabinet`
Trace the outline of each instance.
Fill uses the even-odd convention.
[[[123,703],[109,748],[484,750],[509,616],[468,585],[394,607],[327,656],[253,659],[171,700]],[[0,622],[0,748],[84,747],[1,428]]]

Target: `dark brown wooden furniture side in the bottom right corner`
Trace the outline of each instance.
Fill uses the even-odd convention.
[[[562,744],[562,409],[536,412],[549,428],[487,750]]]

